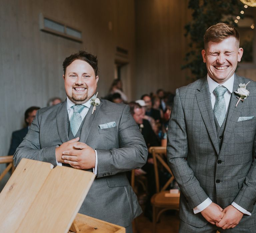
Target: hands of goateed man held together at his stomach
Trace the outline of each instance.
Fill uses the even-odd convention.
[[[95,167],[95,151],[83,142],[79,137],[64,142],[55,149],[56,160],[68,163],[77,169],[90,169]]]

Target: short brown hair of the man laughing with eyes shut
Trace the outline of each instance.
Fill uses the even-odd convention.
[[[237,39],[239,45],[239,33],[231,25],[225,23],[218,23],[209,27],[204,34],[204,48],[207,47],[208,42],[221,42],[227,37],[233,36]]]

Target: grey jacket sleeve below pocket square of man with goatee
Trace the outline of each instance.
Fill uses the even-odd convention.
[[[123,109],[119,129],[119,148],[97,149],[98,177],[114,175],[142,167],[147,161],[148,150],[129,106]]]

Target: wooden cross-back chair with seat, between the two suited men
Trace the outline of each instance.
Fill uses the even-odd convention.
[[[172,171],[164,160],[164,157],[166,157],[166,147],[152,146],[149,148],[149,152],[152,153],[154,159],[154,170],[156,179],[157,193],[154,194],[151,198],[151,205],[153,207],[153,232],[156,232],[156,223],[163,212],[170,209],[179,210],[179,194],[172,197],[165,196],[166,193],[169,193],[169,190],[166,191],[166,189],[174,180]],[[171,174],[171,177],[163,185],[161,190],[159,182],[159,167],[164,168]]]

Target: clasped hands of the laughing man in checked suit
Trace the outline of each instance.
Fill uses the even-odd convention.
[[[208,222],[222,229],[234,228],[243,217],[243,213],[234,206],[229,205],[222,209],[213,202],[201,214]]]

